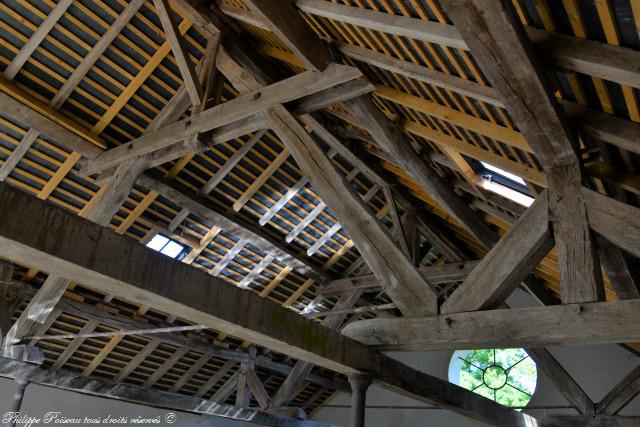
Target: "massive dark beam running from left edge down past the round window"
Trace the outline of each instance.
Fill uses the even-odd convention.
[[[384,387],[490,425],[537,422],[6,184],[0,184],[0,257],[327,369],[371,373]]]

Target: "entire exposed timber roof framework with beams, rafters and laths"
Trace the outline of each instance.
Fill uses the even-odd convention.
[[[0,11],[1,376],[267,425],[361,374],[491,425],[638,422],[638,370],[594,403],[544,346],[640,341],[639,0]],[[550,307],[498,309],[519,286]],[[580,416],[379,352],[489,345]]]

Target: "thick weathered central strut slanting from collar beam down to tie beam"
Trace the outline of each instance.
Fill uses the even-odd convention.
[[[391,241],[377,218],[359,200],[316,142],[283,107],[266,112],[315,191],[356,243],[369,267],[407,315],[436,312],[435,295],[417,269]],[[312,160],[313,159],[313,160]]]

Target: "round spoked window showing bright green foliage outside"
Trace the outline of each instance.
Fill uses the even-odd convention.
[[[538,372],[521,348],[464,350],[454,353],[449,379],[501,405],[522,408],[533,396]]]

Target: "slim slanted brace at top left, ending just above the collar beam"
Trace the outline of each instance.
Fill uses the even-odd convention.
[[[168,0],[153,0],[153,4],[156,6],[156,12],[158,13],[162,28],[171,46],[173,56],[178,64],[182,80],[191,99],[191,104],[194,106],[201,105],[204,102],[202,86],[189,58],[189,53],[182,41],[178,25],[171,14],[169,2]]]

